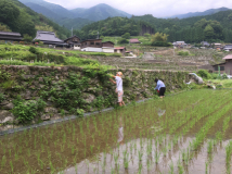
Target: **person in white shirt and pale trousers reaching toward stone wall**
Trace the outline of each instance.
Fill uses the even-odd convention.
[[[115,78],[116,82],[114,82],[112,78],[109,78],[109,80],[113,84],[116,84],[116,94],[118,95],[118,104],[120,107],[125,105],[123,97],[124,97],[124,89],[123,89],[123,79],[121,79],[123,73],[118,72],[116,74],[116,76],[113,76]]]

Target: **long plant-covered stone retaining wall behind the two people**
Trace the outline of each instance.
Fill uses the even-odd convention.
[[[92,112],[117,103],[115,85],[101,71],[76,66],[0,66],[0,130],[12,124],[22,124],[14,115],[14,101],[23,105],[44,101],[30,123],[61,119],[63,115]],[[109,70],[124,73],[124,100],[151,98],[155,91],[155,77],[163,79],[168,91],[178,90],[189,82],[186,72]],[[66,102],[66,103],[65,103]],[[18,110],[18,105],[17,105]],[[11,127],[10,127],[11,128]]]

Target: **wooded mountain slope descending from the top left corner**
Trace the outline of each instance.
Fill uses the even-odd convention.
[[[11,8],[8,8],[8,5]],[[69,30],[61,27],[59,24],[52,22],[46,16],[36,13],[18,0],[0,1],[0,14],[8,13],[14,15],[0,17],[0,23],[9,26],[12,32],[18,32],[22,35],[28,34],[34,37],[37,28],[49,28],[51,32],[55,32],[57,37],[62,39],[65,39],[70,35]]]

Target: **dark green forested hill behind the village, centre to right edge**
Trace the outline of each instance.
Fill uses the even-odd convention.
[[[224,41],[232,42],[232,11],[222,11],[212,15],[189,18],[156,18],[152,15],[125,17],[108,17],[75,30],[78,36],[121,36],[130,33],[131,36],[163,33],[168,35],[168,41],[184,40],[189,44]],[[152,29],[152,32],[151,32]]]

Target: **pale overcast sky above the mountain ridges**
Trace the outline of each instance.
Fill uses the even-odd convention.
[[[134,15],[153,14],[156,17],[203,12],[208,9],[225,7],[232,9],[232,0],[46,0],[66,9],[91,8],[106,3],[115,9]]]

